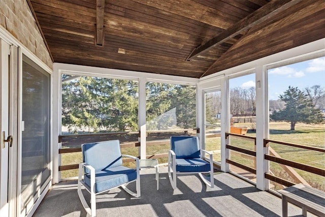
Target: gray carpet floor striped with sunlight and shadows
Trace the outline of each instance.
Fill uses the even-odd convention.
[[[120,188],[96,197],[97,216],[281,216],[281,199],[257,190],[228,173],[215,173],[215,188],[207,188],[198,175],[177,176],[177,189],[169,182],[167,167],[141,170],[141,197]],[[135,190],[135,182],[128,187]],[[84,190],[87,201],[90,194]],[[302,216],[289,205],[289,216]],[[76,181],[55,184],[34,216],[87,216],[77,194]]]

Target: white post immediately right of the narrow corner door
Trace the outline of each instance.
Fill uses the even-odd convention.
[[[225,132],[229,129],[229,81],[228,78],[221,78],[221,171],[229,172],[229,164],[226,159],[229,158],[230,150],[226,149]]]

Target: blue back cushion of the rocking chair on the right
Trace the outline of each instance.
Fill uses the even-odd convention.
[[[197,136],[172,136],[171,149],[176,158],[200,158],[199,138]]]

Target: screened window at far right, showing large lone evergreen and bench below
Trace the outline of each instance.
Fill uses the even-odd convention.
[[[269,138],[287,143],[325,148],[325,57],[268,70]],[[325,154],[269,143],[272,156],[324,169]],[[277,163],[270,173],[285,180],[307,182],[325,191],[325,178]],[[273,190],[283,188],[271,182]]]

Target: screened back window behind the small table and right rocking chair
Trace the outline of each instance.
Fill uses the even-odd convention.
[[[167,155],[171,136],[196,135],[196,86],[147,82],[146,99],[147,155]]]

